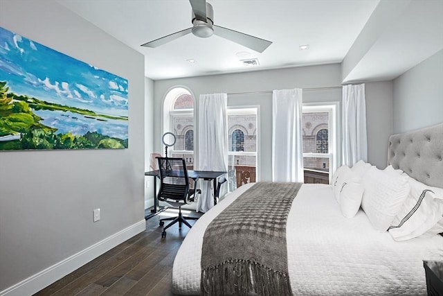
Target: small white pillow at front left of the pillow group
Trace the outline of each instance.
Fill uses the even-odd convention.
[[[346,218],[352,218],[359,211],[363,186],[361,178],[347,166],[337,169],[332,178],[334,196],[340,205],[341,213]]]

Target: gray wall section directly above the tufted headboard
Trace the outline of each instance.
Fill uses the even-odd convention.
[[[443,50],[393,80],[393,92],[393,132],[442,123]]]

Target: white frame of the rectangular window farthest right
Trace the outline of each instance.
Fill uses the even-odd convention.
[[[303,103],[302,113],[309,112],[327,112],[328,113],[328,153],[303,153],[305,157],[318,157],[329,159],[329,184],[332,182],[332,174],[336,171],[340,161],[340,103],[322,102],[322,103]],[[303,170],[305,166],[303,165]]]

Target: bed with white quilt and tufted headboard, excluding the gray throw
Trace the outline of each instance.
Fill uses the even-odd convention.
[[[388,168],[392,171],[389,171],[389,174],[399,180],[400,177],[397,175],[404,180],[407,178],[408,193],[406,198],[395,201],[397,202],[395,213],[385,213],[388,216],[395,216],[389,219],[389,231],[385,229],[386,221],[381,219],[381,222],[379,221],[381,225],[377,225],[374,220],[377,218],[377,213],[372,213],[371,206],[382,207],[382,211],[387,207],[383,202],[375,206],[370,204],[374,198],[372,195],[371,198],[368,196],[371,191],[372,193],[377,191],[374,189],[377,186],[369,184],[368,189],[364,187],[368,184],[360,184],[365,189],[362,193],[363,200],[359,202],[358,207],[353,206],[356,208],[355,213],[350,213],[350,207],[343,209],[342,204],[338,202],[335,195],[337,186],[334,184],[302,184],[287,216],[287,269],[291,293],[293,295],[426,295],[422,260],[443,261],[443,236],[437,234],[443,227],[441,216],[443,200],[438,200],[442,198],[440,194],[443,192],[442,147],[443,124],[390,137]],[[377,170],[373,166],[368,168],[368,165],[370,166],[365,164],[366,171],[360,176],[361,183],[369,182],[371,179],[371,174],[368,172],[374,175],[388,173],[386,172],[388,168],[380,172],[382,170]],[[351,175],[358,175],[357,171],[356,169]],[[350,173],[347,173],[347,184],[352,184],[349,175]],[[399,216],[400,212],[406,209],[406,201],[412,194],[411,188],[415,186],[409,185],[412,184],[410,182],[415,182],[410,180],[411,177],[415,178],[420,186],[430,186],[429,188],[433,189],[433,191],[423,190],[426,194],[422,194],[420,202],[421,204],[435,202],[432,210],[437,213],[433,214],[440,215],[437,223],[429,227],[429,231],[413,238],[405,236],[401,229],[404,225],[408,227],[413,218],[405,220]],[[340,175],[334,174],[334,179],[338,181]],[[392,182],[388,183],[390,184],[386,186],[392,185]],[[226,207],[253,186],[257,185],[246,184],[226,195],[224,200],[201,216],[192,227],[174,260],[172,271],[174,293],[179,295],[201,293],[201,250],[206,228]],[[344,188],[341,186],[341,189]],[[353,197],[354,195],[351,196]],[[365,205],[365,211],[360,207],[360,203],[361,207]],[[347,216],[352,217],[345,217],[346,211]],[[410,213],[408,218],[411,216]],[[386,218],[386,215],[383,217]]]

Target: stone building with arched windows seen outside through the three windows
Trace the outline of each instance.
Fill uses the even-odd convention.
[[[192,107],[190,95],[182,95],[174,103],[174,110],[185,110]],[[174,157],[186,159],[188,167],[194,165],[194,117],[192,114],[172,116],[174,134],[177,141],[174,145]],[[303,153],[328,153],[328,112],[305,112],[302,115]],[[228,166],[230,177],[237,175],[237,186],[246,182],[255,182],[255,155],[244,153],[257,152],[257,115],[228,115]],[[189,151],[189,152],[188,152]],[[305,182],[307,174],[329,172],[329,158],[304,157]],[[314,179],[315,182],[318,180]],[[313,181],[314,182],[314,181]]]

